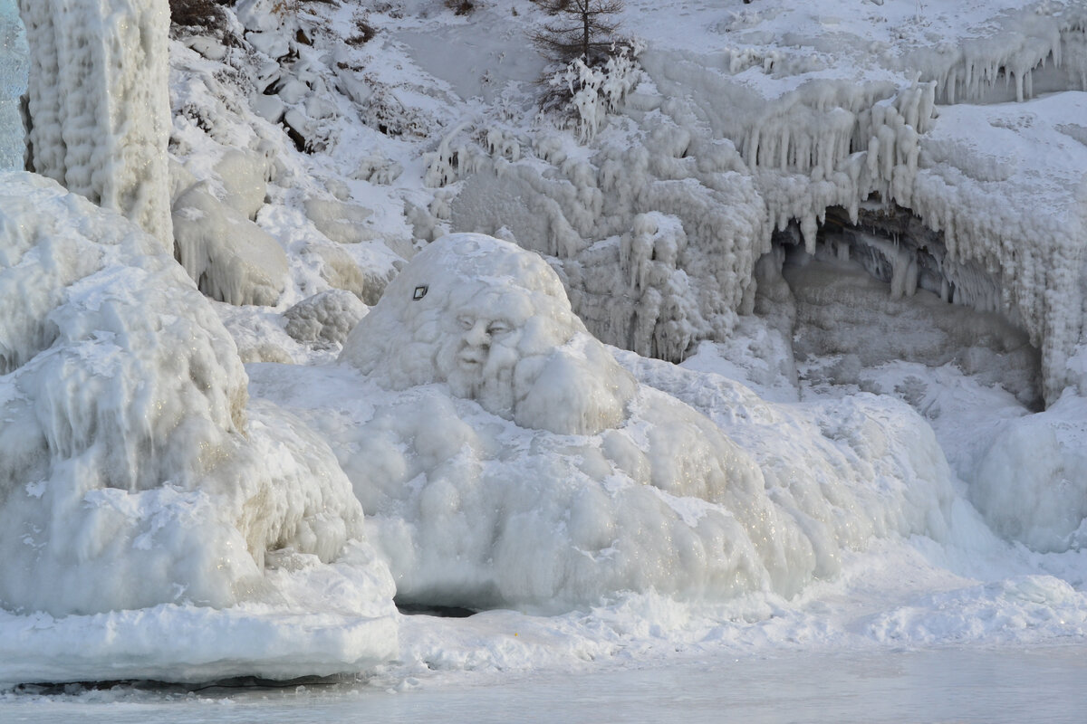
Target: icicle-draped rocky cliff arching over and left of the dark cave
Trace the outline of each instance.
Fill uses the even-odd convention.
[[[734,313],[750,312],[754,261],[772,229],[795,224],[813,252],[828,208],[857,224],[865,207],[897,204],[937,232],[939,249],[895,240],[879,252],[892,293],[910,295],[919,264],[935,261],[928,271],[946,300],[999,310],[1026,329],[1054,402],[1075,383],[1065,363],[1084,327],[1072,281],[1082,265],[1083,149],[1069,142],[1082,115],[1070,89],[1087,89],[1082,3],[972,3],[960,12],[986,30],[969,39],[958,25],[937,28],[897,7],[847,21],[854,11],[837,3],[815,16],[823,34],[782,39],[774,30],[811,27],[814,12],[746,9],[719,27],[739,42],[726,50],[651,43],[638,58],[641,81],[624,88],[609,128],[590,114],[596,138],[583,134],[580,148],[538,135],[514,156],[501,128],[480,130],[478,143],[447,139],[458,163],[441,182],[463,179],[447,204],[451,227],[501,230],[555,256],[595,334],[677,360],[699,340],[727,336]],[[850,33],[874,39],[846,40]],[[941,33],[946,41],[933,39]],[[851,62],[877,71],[858,79]],[[1032,100],[1048,90],[1070,92]],[[1001,100],[1020,104],[937,106]],[[978,123],[994,128],[975,135]],[[1016,170],[1039,152],[1058,175],[1051,182]],[[1038,276],[1058,268],[1070,272]],[[1061,290],[1050,294],[1054,284]]]

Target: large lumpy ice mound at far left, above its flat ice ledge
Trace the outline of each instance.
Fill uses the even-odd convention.
[[[312,610],[300,581],[339,579],[347,593],[321,608],[373,620],[366,657],[388,656],[391,583],[365,562],[348,480],[297,419],[248,402],[182,267],[33,175],[0,177],[0,299],[18,301],[0,321],[0,606],[286,615]],[[326,564],[341,558],[355,562]]]

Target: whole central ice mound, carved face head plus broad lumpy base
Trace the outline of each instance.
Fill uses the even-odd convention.
[[[582,331],[536,254],[454,234],[350,335],[342,359],[364,374],[250,372],[254,394],[333,445],[403,601],[790,596],[872,536],[941,534],[947,462],[900,403],[774,406],[623,356],[632,371]]]

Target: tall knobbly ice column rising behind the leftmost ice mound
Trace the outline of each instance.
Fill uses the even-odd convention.
[[[167,0],[18,0],[33,170],[173,246]]]

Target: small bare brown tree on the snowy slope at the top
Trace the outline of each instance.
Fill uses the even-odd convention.
[[[580,58],[596,65],[623,40],[615,36],[623,0],[534,0],[554,16],[550,23],[529,34],[533,43],[554,61]]]

